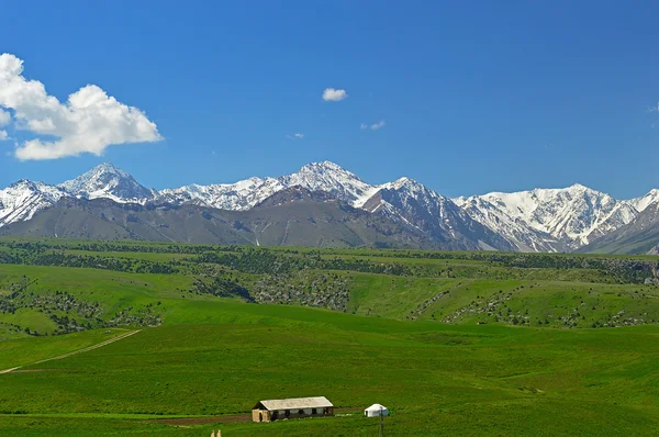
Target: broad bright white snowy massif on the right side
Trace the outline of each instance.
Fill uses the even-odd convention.
[[[579,183],[565,189],[492,192],[457,202],[467,208],[474,220],[514,239],[521,248],[526,245],[533,250],[546,248],[533,235],[534,231],[558,240],[540,237],[552,250],[561,250],[561,244],[577,248],[624,226],[637,214],[628,201],[616,201]],[[510,227],[511,223],[516,229]],[[515,232],[520,234],[515,236]]]

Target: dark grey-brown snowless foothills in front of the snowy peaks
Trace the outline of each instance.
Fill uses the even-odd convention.
[[[313,198],[321,197],[323,201]],[[292,189],[249,211],[66,198],[2,235],[209,244],[436,248],[414,228]]]

